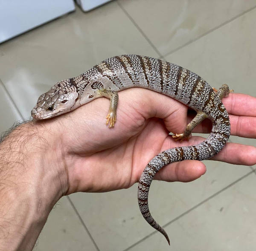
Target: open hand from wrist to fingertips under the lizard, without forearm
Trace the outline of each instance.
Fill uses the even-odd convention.
[[[230,114],[231,134],[256,138],[256,98],[231,93],[223,102]],[[108,106],[107,98],[99,98],[57,118],[36,121],[50,128],[51,142],[59,142],[58,159],[68,177],[65,194],[129,188],[161,151],[204,140],[192,136],[189,141],[177,142],[169,136],[170,131],[182,133],[192,117],[185,105],[166,95],[141,88],[119,92],[117,122],[111,129],[105,125]],[[210,130],[211,122],[205,120],[194,132]],[[227,143],[212,159],[253,165],[256,147]],[[189,182],[205,171],[204,163],[187,160],[169,164],[155,178]]]

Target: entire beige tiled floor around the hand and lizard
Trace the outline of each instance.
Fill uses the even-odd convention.
[[[164,58],[214,87],[227,83],[256,96],[255,31],[255,0],[119,0],[89,13],[77,8],[0,44],[0,132],[28,118],[38,95],[56,81],[120,54]],[[256,145],[255,139],[231,141]],[[194,182],[151,187],[151,212],[166,226],[171,247],[142,218],[134,185],[62,198],[35,251],[254,250],[253,167],[206,165]]]

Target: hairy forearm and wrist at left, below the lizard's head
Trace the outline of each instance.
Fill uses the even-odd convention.
[[[32,250],[53,205],[66,193],[54,141],[32,122],[0,144],[0,250]]]

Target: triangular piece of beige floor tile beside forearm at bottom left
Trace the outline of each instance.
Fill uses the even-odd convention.
[[[34,251],[97,250],[66,197],[52,209]]]

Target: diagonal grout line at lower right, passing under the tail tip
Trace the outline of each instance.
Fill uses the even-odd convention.
[[[240,177],[239,179],[235,180],[234,182],[230,183],[229,185],[227,185],[226,187],[222,188],[221,190],[219,190],[218,192],[212,194],[211,196],[209,196],[207,199],[204,199],[203,201],[199,202],[197,205],[195,205],[194,207],[190,208],[189,210],[187,210],[184,213],[181,213],[179,216],[175,217],[174,219],[172,219],[171,221],[167,222],[166,224],[163,225],[163,228],[167,227],[168,225],[172,224],[173,222],[177,221],[178,219],[180,219],[181,217],[185,216],[186,214],[190,213],[191,211],[193,211],[194,209],[198,208],[199,206],[203,205],[205,202],[209,201],[210,199],[214,198],[215,196],[217,196],[218,194],[222,193],[224,190],[227,190],[228,188],[232,187],[233,185],[235,185],[236,183],[238,183],[239,181],[241,181],[242,179],[246,178],[247,176],[251,175],[252,173],[255,173],[254,170],[250,171],[249,173],[245,174],[244,176]],[[256,173],[255,173],[256,174]],[[133,245],[129,246],[128,248],[125,248],[123,251],[128,251],[129,249],[135,247],[136,245],[138,245],[139,243],[143,242],[145,239],[148,239],[149,237],[151,237],[152,235],[158,233],[158,231],[153,231],[150,234],[148,234],[147,236],[143,237],[142,239],[140,239],[139,241],[135,242]]]

